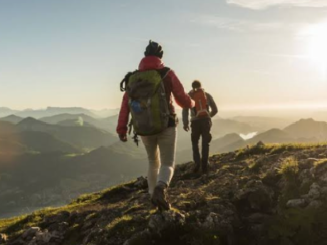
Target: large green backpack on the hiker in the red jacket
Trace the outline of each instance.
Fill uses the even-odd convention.
[[[154,135],[168,127],[170,110],[164,79],[169,68],[136,71],[126,83],[134,131],[138,135]]]

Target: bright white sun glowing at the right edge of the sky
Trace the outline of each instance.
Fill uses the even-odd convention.
[[[309,37],[308,57],[310,61],[327,74],[327,22],[313,24],[302,31]]]

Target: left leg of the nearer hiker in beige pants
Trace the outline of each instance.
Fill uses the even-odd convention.
[[[158,136],[141,136],[141,138],[148,155],[148,189],[149,194],[152,195],[154,188],[157,185],[157,179],[160,168]]]

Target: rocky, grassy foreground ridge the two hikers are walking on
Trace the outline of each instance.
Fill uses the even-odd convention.
[[[172,209],[152,209],[144,178],[0,220],[0,244],[327,244],[327,146],[265,145],[176,168]]]

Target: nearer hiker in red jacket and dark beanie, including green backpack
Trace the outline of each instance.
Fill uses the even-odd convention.
[[[148,187],[151,202],[161,210],[168,210],[170,205],[166,199],[166,190],[174,173],[177,138],[177,118],[172,95],[176,103],[182,108],[192,108],[194,104],[189,95],[185,93],[174,71],[165,67],[164,63],[162,63],[161,58],[163,54],[164,51],[161,45],[150,40],[144,52],[145,57],[139,63],[138,70],[133,73],[130,72],[125,76],[123,80],[126,83],[125,89],[121,87],[121,90],[125,90],[125,93],[123,95],[116,132],[121,141],[127,141],[129,114],[131,112],[134,129],[136,131],[142,131],[143,135],[141,133],[139,134],[141,135],[148,155]],[[159,79],[158,74],[161,76]],[[149,76],[155,76],[155,78],[149,79]],[[159,81],[161,85],[164,85],[158,85],[158,88],[161,89],[160,94],[156,94],[157,89],[151,90],[150,87],[146,89],[147,92],[138,92],[146,86],[150,86],[149,84],[154,83],[153,81],[155,80]],[[140,84],[144,84],[144,86],[140,86]],[[151,95],[153,98],[156,97],[158,98],[157,100],[164,101],[164,103],[159,103],[161,108],[153,110],[156,109],[154,107],[158,106],[158,103],[151,102],[154,99],[147,95],[149,93],[154,94]],[[145,96],[148,97],[145,98]],[[149,106],[149,104],[151,105]],[[143,115],[150,119],[142,119]],[[153,124],[156,124],[157,120],[164,121],[164,125],[162,126],[161,124],[160,126],[164,127],[161,132],[151,135],[150,128],[153,126],[150,123],[151,120],[155,121]],[[149,127],[149,132],[144,132],[147,129],[146,127]],[[151,131],[152,129],[154,128],[152,127]]]

